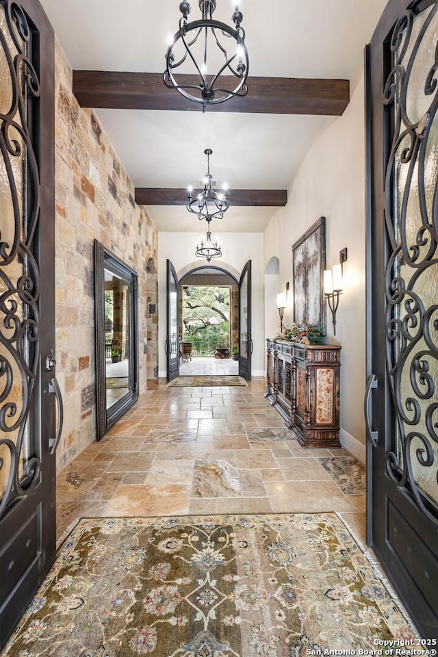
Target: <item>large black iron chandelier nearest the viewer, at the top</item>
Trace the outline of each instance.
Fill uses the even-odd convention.
[[[203,105],[205,112],[207,105],[223,103],[233,96],[246,96],[249,61],[245,32],[240,26],[243,14],[237,4],[232,16],[234,28],[212,18],[216,0],[199,0],[199,8],[201,20],[188,23],[190,4],[179,5],[183,15],[179,19],[179,31],[169,39],[163,81],[166,87]],[[177,73],[185,62],[187,66],[179,73],[192,74],[191,80],[179,78]],[[230,73],[235,77],[233,84],[229,77],[221,78]],[[230,84],[231,89],[223,88]]]

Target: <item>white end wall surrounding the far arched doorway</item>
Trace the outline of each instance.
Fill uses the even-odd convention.
[[[207,265],[207,261],[196,259],[194,250],[200,233],[158,233],[158,297],[159,297],[159,376],[166,376],[166,260],[169,259],[177,274],[188,263],[196,260],[197,266]],[[253,318],[253,376],[263,376],[265,346],[263,335],[263,233],[214,233],[222,247],[223,256],[211,261],[227,269],[231,266],[242,272],[245,263],[252,261],[252,318]]]

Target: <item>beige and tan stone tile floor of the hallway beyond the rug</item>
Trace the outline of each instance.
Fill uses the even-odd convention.
[[[57,477],[57,532],[79,517],[337,511],[365,537],[365,469],[305,449],[246,387],[160,382]]]

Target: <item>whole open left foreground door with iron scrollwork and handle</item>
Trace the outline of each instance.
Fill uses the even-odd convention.
[[[55,558],[54,38],[0,0],[0,649]]]

